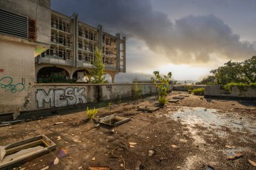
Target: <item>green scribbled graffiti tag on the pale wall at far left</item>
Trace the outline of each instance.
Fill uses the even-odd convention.
[[[6,91],[11,91],[11,93],[23,91],[25,90],[25,79],[22,78],[21,83],[13,84],[13,79],[11,77],[3,77],[0,79],[0,87]]]

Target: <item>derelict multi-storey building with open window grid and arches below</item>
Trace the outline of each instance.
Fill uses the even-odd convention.
[[[79,22],[77,14],[67,17],[51,11],[51,47],[36,57],[36,77],[61,73],[71,79],[94,69],[95,50],[102,52],[106,73],[115,82],[115,75],[125,73],[125,37],[103,32]]]

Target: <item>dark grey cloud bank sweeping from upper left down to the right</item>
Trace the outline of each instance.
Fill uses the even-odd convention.
[[[255,42],[241,41],[215,15],[189,15],[170,21],[148,0],[53,0],[52,6],[67,15],[76,12],[83,22],[94,26],[102,24],[108,32],[143,40],[150,50],[164,54],[172,63],[205,63],[212,54],[242,60],[256,53]]]

